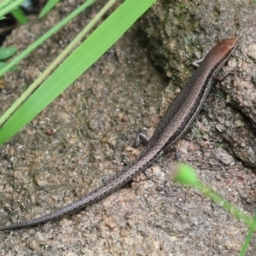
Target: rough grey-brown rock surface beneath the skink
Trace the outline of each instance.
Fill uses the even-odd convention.
[[[245,39],[226,67],[236,67],[234,74],[212,90],[176,147],[203,182],[253,216],[256,27],[247,28],[252,26],[255,3],[168,2],[155,4],[90,70],[0,148],[0,224],[51,212],[119,172],[142,149],[131,147],[137,131],[152,135],[160,115],[193,72],[189,63],[220,39],[244,32]],[[43,21],[34,18],[16,29],[6,44],[26,49],[78,4],[58,4]],[[100,8],[97,2],[21,61],[18,71],[4,77],[2,113]],[[51,129],[56,131],[49,136]],[[162,156],[125,188],[84,211],[30,230],[0,233],[0,252],[237,255],[247,226],[195,189],[169,180],[166,174],[174,159],[173,152]],[[255,250],[253,237],[247,255],[255,255]]]

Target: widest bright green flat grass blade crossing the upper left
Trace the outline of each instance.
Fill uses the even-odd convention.
[[[138,3],[137,0],[126,0],[122,3],[3,125],[0,130],[0,144],[20,131],[84,73],[154,2],[144,0]]]

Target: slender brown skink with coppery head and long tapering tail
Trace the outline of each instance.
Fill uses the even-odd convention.
[[[66,214],[79,211],[79,209],[112,194],[140,172],[143,172],[160,154],[164,153],[168,147],[175,143],[189,129],[212,88],[212,80],[217,77],[220,69],[229,60],[238,42],[238,38],[224,39],[210,50],[201,62],[200,67],[195,70],[195,73],[193,73],[188,83],[185,84],[183,90],[167,109],[147,147],[122,172],[112,177],[108,183],[91,191],[88,195],[84,195],[79,200],[73,201],[66,207],[62,207],[40,218],[33,218],[18,224],[1,227],[0,230],[31,228],[32,226],[44,224],[50,220],[61,218]]]

